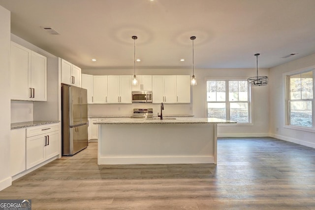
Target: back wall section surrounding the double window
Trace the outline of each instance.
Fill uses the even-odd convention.
[[[268,69],[259,69],[259,75],[268,76]],[[193,114],[207,117],[206,79],[247,79],[256,75],[255,69],[195,70],[197,85],[192,87]],[[219,137],[269,136],[269,85],[252,87],[252,125],[218,125]]]

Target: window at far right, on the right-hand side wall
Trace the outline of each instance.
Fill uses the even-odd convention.
[[[287,124],[313,128],[313,70],[287,76]]]

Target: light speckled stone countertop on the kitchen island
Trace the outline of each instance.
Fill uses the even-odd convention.
[[[173,117],[163,117],[160,120],[158,117],[153,119],[144,118],[106,118],[102,122],[94,124],[226,124],[226,123],[236,123],[230,120],[224,120],[219,118],[195,118],[195,117],[179,117],[174,119]]]

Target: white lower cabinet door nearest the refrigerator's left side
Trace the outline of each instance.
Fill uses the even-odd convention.
[[[44,149],[46,150],[45,158],[47,160],[59,154],[59,131],[47,133],[45,138],[46,146],[44,146]]]

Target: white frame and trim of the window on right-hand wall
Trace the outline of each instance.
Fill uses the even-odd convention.
[[[313,99],[301,99],[301,100],[291,100],[290,99],[290,76],[297,75],[297,74],[303,74],[309,71],[313,71]],[[308,67],[305,69],[299,69],[294,70],[290,72],[286,72],[283,74],[284,77],[284,128],[287,129],[293,129],[293,130],[299,130],[299,131],[306,131],[306,132],[312,132],[315,133],[315,66]],[[304,127],[304,126],[296,126],[296,125],[290,125],[290,102],[312,102],[312,123],[313,127]]]

